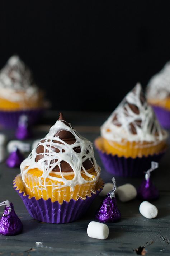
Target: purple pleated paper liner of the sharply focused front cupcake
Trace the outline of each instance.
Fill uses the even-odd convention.
[[[69,202],[63,201],[62,204],[58,203],[58,201],[52,202],[50,198],[48,200],[44,200],[43,198],[36,200],[35,197],[30,198],[24,192],[24,184],[20,174],[15,177],[13,185],[23,200],[29,214],[34,219],[42,222],[61,224],[73,222],[81,218],[95,197],[103,189],[104,182],[99,178],[95,190],[90,195],[84,199],[79,198],[77,201],[74,199],[71,199]]]

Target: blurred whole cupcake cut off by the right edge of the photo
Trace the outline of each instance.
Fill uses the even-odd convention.
[[[170,128],[170,62],[150,79],[146,96],[160,124]]]

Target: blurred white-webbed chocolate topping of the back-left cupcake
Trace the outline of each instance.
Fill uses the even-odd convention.
[[[22,92],[35,98],[37,91],[29,68],[17,55],[10,57],[0,70],[0,97],[17,102],[23,99]]]

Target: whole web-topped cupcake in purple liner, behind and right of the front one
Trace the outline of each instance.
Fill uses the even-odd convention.
[[[107,171],[140,176],[166,149],[167,132],[161,128],[137,84],[101,126],[95,145]]]

